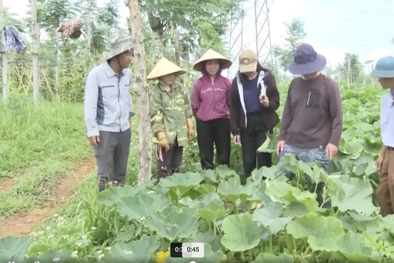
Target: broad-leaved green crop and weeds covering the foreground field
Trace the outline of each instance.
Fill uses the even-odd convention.
[[[201,171],[193,165],[191,145],[184,173],[156,186],[149,182],[96,195],[90,173],[75,198],[32,235],[0,239],[0,262],[191,261],[169,257],[170,242],[204,242],[205,257],[196,262],[392,262],[393,216],[377,215],[373,200],[383,93],[353,86],[341,94],[344,132],[329,174],[289,157],[286,166],[297,175],[293,181],[276,166],[245,181],[238,172],[239,149],[233,148],[232,169]],[[262,150],[275,142],[273,136]],[[132,174],[135,160],[132,155]],[[334,208],[318,207],[304,173],[327,184],[325,198]],[[262,181],[263,175],[268,179]],[[253,202],[261,206],[254,209]]]

